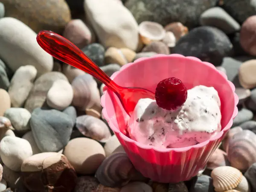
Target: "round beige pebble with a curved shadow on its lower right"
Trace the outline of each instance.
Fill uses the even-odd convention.
[[[76,172],[83,175],[94,174],[105,159],[102,145],[95,140],[84,137],[70,140],[63,154]]]

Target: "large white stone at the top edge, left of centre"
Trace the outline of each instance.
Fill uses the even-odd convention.
[[[137,49],[138,24],[122,3],[116,0],[84,0],[84,11],[104,47]]]

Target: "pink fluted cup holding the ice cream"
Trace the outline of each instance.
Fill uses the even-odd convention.
[[[212,64],[195,57],[172,54],[140,58],[123,66],[111,76],[111,79],[124,87],[144,87],[154,92],[157,83],[169,77],[180,79],[187,89],[205,85],[212,86],[218,91],[221,99],[221,132],[204,143],[184,148],[160,149],[143,145],[126,136],[129,116],[117,96],[105,88],[101,98],[102,115],[135,168],[145,177],[161,183],[189,180],[204,169],[207,160],[218,148],[238,112],[235,86]]]

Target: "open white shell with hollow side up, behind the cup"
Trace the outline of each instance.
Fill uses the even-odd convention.
[[[159,23],[152,21],[143,21],[139,25],[139,34],[144,44],[148,45],[152,41],[160,41],[165,35],[166,31]]]

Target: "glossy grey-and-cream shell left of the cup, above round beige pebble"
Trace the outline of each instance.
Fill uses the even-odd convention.
[[[82,115],[76,118],[76,128],[86,137],[105,143],[111,133],[108,126],[101,119],[90,115]]]

